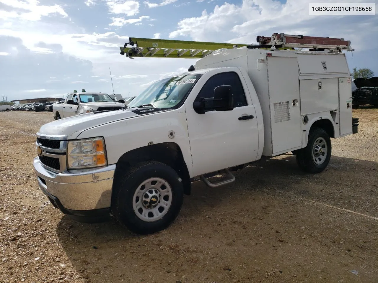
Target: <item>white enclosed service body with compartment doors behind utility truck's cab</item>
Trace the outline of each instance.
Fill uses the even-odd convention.
[[[256,89],[264,123],[263,155],[275,156],[305,147],[310,123],[319,119],[332,122],[335,138],[341,132],[352,133],[352,109],[345,108],[352,92],[344,53],[239,48],[213,52],[198,60],[195,69],[229,66],[246,68]],[[340,94],[339,78],[347,82],[347,86],[340,85]],[[319,82],[322,89],[318,89]],[[293,106],[295,99],[298,106]],[[280,102],[289,102],[284,107],[293,121],[275,123],[274,103]],[[304,115],[308,115],[307,124],[302,122]],[[339,115],[344,123],[339,123]]]

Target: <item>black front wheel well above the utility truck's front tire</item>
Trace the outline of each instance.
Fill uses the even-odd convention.
[[[127,171],[137,163],[151,160],[159,161],[172,167],[183,182],[184,194],[190,195],[191,181],[189,171],[184,161],[180,146],[173,142],[143,146],[123,154],[116,164],[116,170],[114,172],[115,182],[117,181],[117,178],[122,175],[122,172]],[[113,185],[113,189],[116,188],[117,186]],[[112,195],[114,194],[112,193]]]

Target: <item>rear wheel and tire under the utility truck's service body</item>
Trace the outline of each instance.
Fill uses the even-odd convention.
[[[328,165],[332,153],[331,139],[322,128],[311,129],[305,148],[296,152],[299,167],[307,173],[320,173]]]

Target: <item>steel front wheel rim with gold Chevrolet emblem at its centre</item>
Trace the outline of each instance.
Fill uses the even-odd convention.
[[[134,192],[135,215],[146,222],[160,220],[172,205],[172,188],[163,178],[144,180]]]

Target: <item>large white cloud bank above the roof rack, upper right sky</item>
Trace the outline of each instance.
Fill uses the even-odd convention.
[[[203,10],[199,17],[184,18],[178,23],[178,28],[170,32],[169,38],[187,36],[198,41],[255,43],[257,35],[285,32],[345,38],[352,41],[353,48],[372,48],[371,44],[364,42],[366,38],[371,38],[374,31],[378,31],[376,17],[308,15],[310,2],[313,1],[287,0],[281,3],[275,0],[243,0],[241,5],[225,2],[216,5],[210,13]],[[350,25],[351,17],[353,25]],[[364,28],[360,25],[364,25]]]

